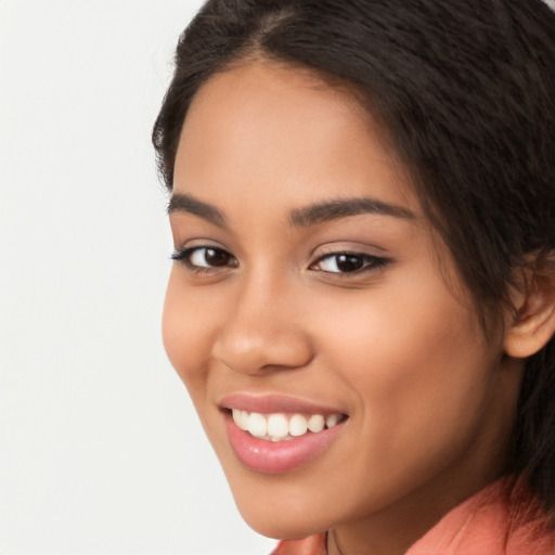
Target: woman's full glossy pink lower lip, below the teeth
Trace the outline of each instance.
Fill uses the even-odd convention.
[[[307,464],[327,449],[343,428],[343,424],[337,424],[318,434],[307,433],[285,441],[267,441],[242,430],[230,413],[225,413],[225,425],[231,448],[241,463],[251,470],[267,474],[286,473]]]

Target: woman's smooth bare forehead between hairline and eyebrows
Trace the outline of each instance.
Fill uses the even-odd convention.
[[[175,188],[211,201],[279,191],[292,205],[314,195],[418,205],[388,134],[353,94],[272,62],[235,66],[201,88],[183,125]]]

